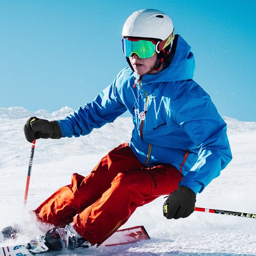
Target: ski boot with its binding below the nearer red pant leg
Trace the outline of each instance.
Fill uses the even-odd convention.
[[[89,242],[74,230],[73,224],[70,224],[66,225],[64,228],[51,228],[44,236],[38,236],[28,241],[26,248],[31,253],[41,253],[89,247],[88,244]]]

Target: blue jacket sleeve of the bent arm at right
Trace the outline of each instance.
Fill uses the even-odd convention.
[[[175,117],[199,149],[197,162],[179,185],[197,194],[218,177],[232,159],[226,123],[207,94],[183,102]]]

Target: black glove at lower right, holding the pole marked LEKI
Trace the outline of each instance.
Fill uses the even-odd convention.
[[[195,210],[196,195],[189,187],[179,186],[163,205],[164,217],[167,219],[187,218]]]

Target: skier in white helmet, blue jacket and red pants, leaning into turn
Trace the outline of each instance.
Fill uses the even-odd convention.
[[[24,126],[32,142],[87,135],[126,110],[134,124],[129,143],[111,150],[87,177],[73,174],[71,184],[33,211],[38,221],[54,226],[32,241],[34,253],[100,245],[137,207],[161,195],[169,195],[167,219],[186,218],[197,193],[232,159],[226,123],[192,79],[191,47],[174,35],[171,18],[138,10],[125,21],[122,36],[130,67],[95,100],[63,120],[31,117]]]

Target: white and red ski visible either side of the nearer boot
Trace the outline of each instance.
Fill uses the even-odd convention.
[[[144,226],[135,226],[132,228],[117,230],[100,246],[117,246],[148,239],[150,239],[150,237],[148,236],[148,233]],[[44,253],[47,253],[47,251]],[[25,256],[30,254],[30,251],[26,248],[25,245],[0,247],[0,256]]]

